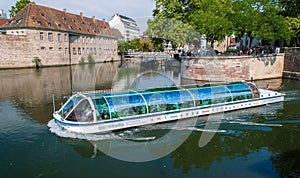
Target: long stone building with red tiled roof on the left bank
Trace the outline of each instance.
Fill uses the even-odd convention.
[[[34,66],[39,57],[42,65],[69,65],[87,61],[115,60],[117,39],[109,24],[95,17],[88,18],[30,3],[0,27],[0,67]]]

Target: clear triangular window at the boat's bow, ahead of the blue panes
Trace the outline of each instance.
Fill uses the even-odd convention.
[[[89,101],[87,99],[82,100],[69,114],[66,120],[74,122],[92,122],[93,110]]]

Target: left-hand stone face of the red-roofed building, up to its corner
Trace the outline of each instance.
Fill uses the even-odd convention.
[[[22,31],[24,35],[0,35],[0,68],[34,67],[34,57],[39,57],[44,66],[69,64],[69,55],[63,50],[68,48],[68,41],[58,42],[58,32]],[[43,33],[43,40],[40,39],[40,32]],[[52,33],[52,40],[47,38],[48,33]]]

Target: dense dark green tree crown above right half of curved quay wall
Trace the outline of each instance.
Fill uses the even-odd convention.
[[[275,41],[289,42],[291,34],[288,23],[281,15],[277,0],[243,0],[233,2],[234,14],[230,17],[234,34],[263,40],[273,44]]]

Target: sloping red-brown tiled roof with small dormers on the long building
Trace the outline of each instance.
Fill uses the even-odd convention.
[[[112,35],[109,24],[103,20],[95,19],[95,17],[84,17],[82,14],[71,14],[33,3],[28,4],[1,28],[37,28],[85,35]]]

